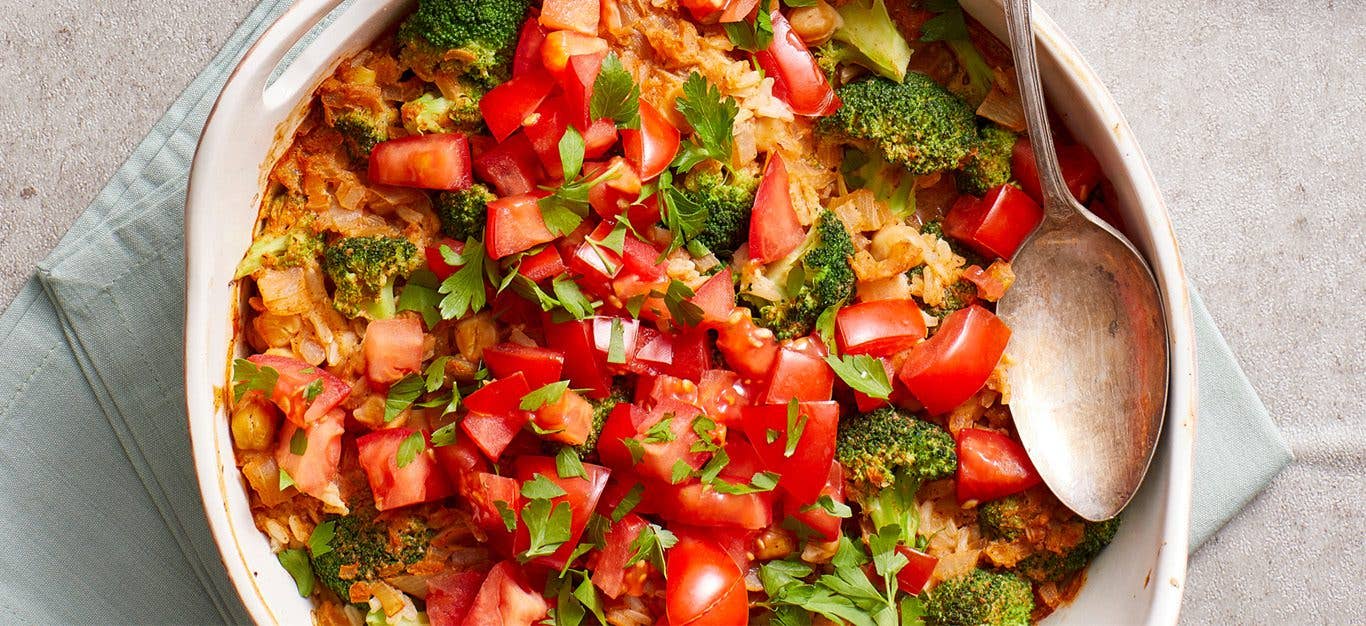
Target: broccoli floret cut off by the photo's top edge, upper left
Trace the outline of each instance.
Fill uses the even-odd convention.
[[[437,71],[493,87],[508,77],[527,0],[421,0],[399,26],[399,60],[422,79]]]

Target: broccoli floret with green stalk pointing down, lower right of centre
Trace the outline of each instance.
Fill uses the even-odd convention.
[[[919,529],[915,492],[921,482],[958,469],[953,437],[947,431],[893,407],[841,420],[835,458],[873,526],[895,523],[906,545],[915,545]]]

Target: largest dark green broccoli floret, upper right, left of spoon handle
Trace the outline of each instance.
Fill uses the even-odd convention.
[[[908,72],[904,82],[874,77],[837,90],[843,103],[818,128],[914,175],[953,169],[977,148],[973,109],[930,77]]]

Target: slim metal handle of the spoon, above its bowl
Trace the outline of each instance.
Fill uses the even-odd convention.
[[[1011,52],[1015,55],[1015,78],[1019,82],[1020,101],[1029,122],[1030,145],[1034,146],[1034,163],[1044,190],[1044,210],[1050,220],[1059,221],[1076,215],[1076,201],[1063,182],[1057,165],[1057,150],[1053,148],[1053,133],[1048,126],[1048,109],[1044,108],[1044,86],[1038,78],[1038,59],[1034,56],[1034,21],[1030,0],[1005,0],[1005,26],[1011,33]]]

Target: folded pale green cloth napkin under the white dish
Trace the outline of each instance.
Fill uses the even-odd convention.
[[[20,623],[242,623],[194,481],[183,403],[184,185],[260,4],[0,316],[0,614]],[[249,210],[250,208],[239,208]],[[1291,457],[1195,299],[1191,549]]]

